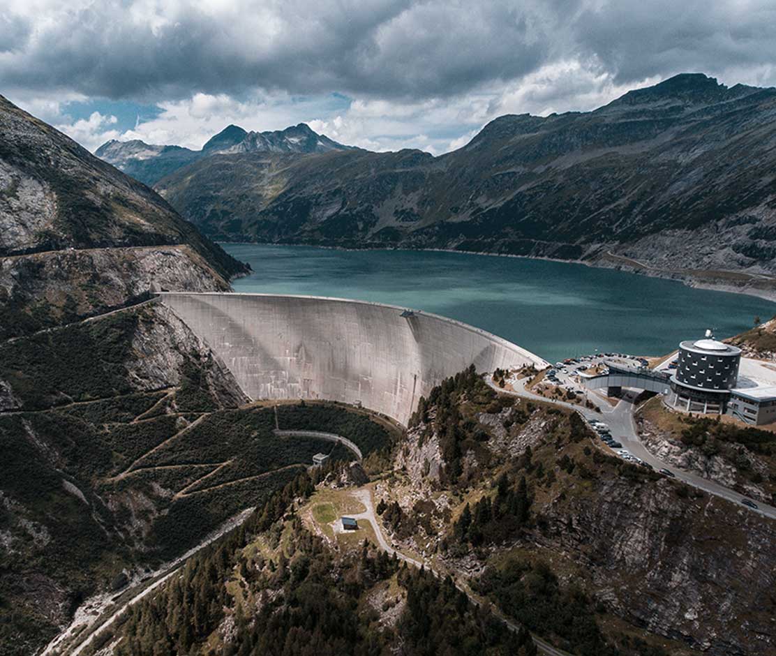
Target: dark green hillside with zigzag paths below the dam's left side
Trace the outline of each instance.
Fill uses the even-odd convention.
[[[158,304],[0,344],[0,653],[35,653],[85,599],[150,576],[315,453],[352,459],[275,436],[274,409],[247,401]],[[279,425],[336,430],[363,453],[395,441],[350,412],[289,405]]]

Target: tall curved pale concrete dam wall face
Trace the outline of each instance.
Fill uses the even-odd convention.
[[[160,293],[252,399],[362,404],[406,425],[421,396],[474,364],[479,372],[545,360],[436,314],[337,298]]]

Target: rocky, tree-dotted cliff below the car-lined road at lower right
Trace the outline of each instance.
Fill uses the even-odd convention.
[[[459,415],[449,402],[421,408],[397,449],[400,474],[376,488],[388,503],[386,529],[407,549],[463,574],[497,604],[514,595],[518,605],[504,613],[555,633],[573,653],[609,653],[605,643],[619,643],[622,630],[663,637],[670,654],[773,653],[776,522],[624,463],[556,408],[476,390],[453,401]],[[515,524],[514,509],[497,519],[521,478],[526,519]],[[516,572],[532,567],[521,597]],[[545,613],[551,599],[535,580],[542,567],[552,572],[542,574],[546,585],[557,579],[553,594],[568,593],[566,606],[594,618],[586,629]]]

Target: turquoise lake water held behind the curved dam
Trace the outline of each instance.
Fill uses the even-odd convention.
[[[443,314],[555,362],[599,351],[659,355],[715,328],[728,337],[776,304],[578,264],[421,251],[223,244],[253,274],[238,292],[356,298]]]

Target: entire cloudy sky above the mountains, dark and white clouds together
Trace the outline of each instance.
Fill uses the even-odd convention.
[[[85,147],[306,122],[373,150],[684,71],[776,85],[774,0],[0,0],[0,93]]]

